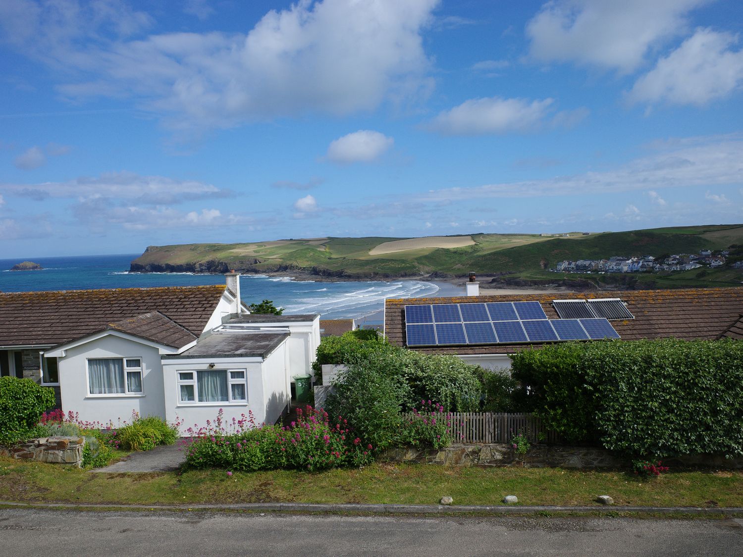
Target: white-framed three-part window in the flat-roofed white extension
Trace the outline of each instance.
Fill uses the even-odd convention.
[[[178,371],[181,403],[247,403],[245,370]]]

